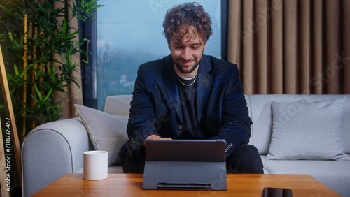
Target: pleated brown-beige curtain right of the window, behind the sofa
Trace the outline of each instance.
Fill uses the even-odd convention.
[[[229,0],[244,94],[350,94],[350,0]]]

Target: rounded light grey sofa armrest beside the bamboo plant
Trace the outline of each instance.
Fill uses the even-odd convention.
[[[22,193],[31,196],[59,177],[83,167],[83,152],[92,148],[80,118],[48,122],[22,143]]]

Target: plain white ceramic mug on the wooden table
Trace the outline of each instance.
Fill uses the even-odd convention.
[[[83,156],[83,177],[85,180],[104,180],[108,177],[109,152],[86,151]]]

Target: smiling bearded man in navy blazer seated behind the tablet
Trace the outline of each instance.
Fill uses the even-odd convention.
[[[186,3],[167,11],[163,27],[171,54],[139,67],[124,173],[144,172],[146,139],[224,139],[228,173],[263,173],[258,150],[247,145],[251,119],[237,66],[203,54],[209,15]]]

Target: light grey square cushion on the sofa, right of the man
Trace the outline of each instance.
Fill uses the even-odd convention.
[[[349,161],[342,127],[345,98],[272,102],[272,139],[267,159]]]

